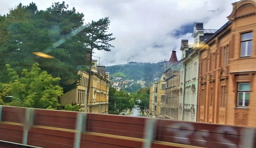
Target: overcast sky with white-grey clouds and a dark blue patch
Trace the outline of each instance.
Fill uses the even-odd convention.
[[[133,62],[169,60],[176,48],[180,59],[181,39],[191,37],[194,22],[204,22],[204,29],[219,29],[228,20],[231,3],[238,0],[66,0],[69,9],[83,12],[85,22],[109,17],[108,32],[116,40],[111,52],[96,51],[105,66]],[[39,10],[52,5],[53,0],[1,0],[0,14],[9,12],[19,3],[34,2]],[[60,1],[62,2],[62,1]],[[97,59],[98,58],[95,58]]]

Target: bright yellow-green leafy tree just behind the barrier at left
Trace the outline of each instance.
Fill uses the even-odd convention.
[[[6,68],[9,82],[0,83],[0,103],[42,109],[59,107],[57,98],[63,94],[62,88],[58,85],[59,77],[53,78],[46,71],[41,71],[38,63],[33,64],[30,71],[23,69],[20,76],[9,64]],[[19,98],[23,104],[5,96]]]

